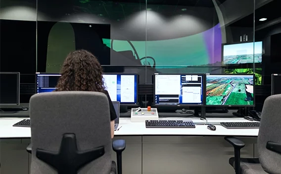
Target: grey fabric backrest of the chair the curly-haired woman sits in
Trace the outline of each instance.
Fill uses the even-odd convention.
[[[37,158],[36,152],[37,149],[59,152],[66,133],[75,134],[79,151],[104,147],[104,155],[82,167],[78,174],[110,173],[110,112],[105,94],[87,91],[35,94],[30,99],[30,122],[31,174],[57,174]]]

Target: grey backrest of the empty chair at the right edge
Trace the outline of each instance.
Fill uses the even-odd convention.
[[[272,95],[264,102],[258,135],[259,160],[269,174],[281,174],[281,154],[267,148],[268,142],[281,145],[280,124],[281,95]]]

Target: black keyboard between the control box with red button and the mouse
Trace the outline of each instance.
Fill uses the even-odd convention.
[[[195,128],[192,121],[182,120],[146,120],[146,128]]]

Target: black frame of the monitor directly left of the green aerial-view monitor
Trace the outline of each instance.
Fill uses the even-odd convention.
[[[155,104],[155,75],[199,75],[202,76],[202,104],[175,104],[175,105],[165,105],[165,104]],[[186,107],[186,106],[198,106],[202,107],[205,106],[205,95],[206,95],[206,85],[204,84],[206,82],[206,75],[203,73],[154,73],[153,75],[153,102],[152,105],[154,107]]]

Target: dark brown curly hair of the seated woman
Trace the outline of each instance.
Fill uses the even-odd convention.
[[[97,58],[84,49],[70,52],[61,68],[61,77],[55,91],[96,91],[102,92],[104,84],[102,67]]]

